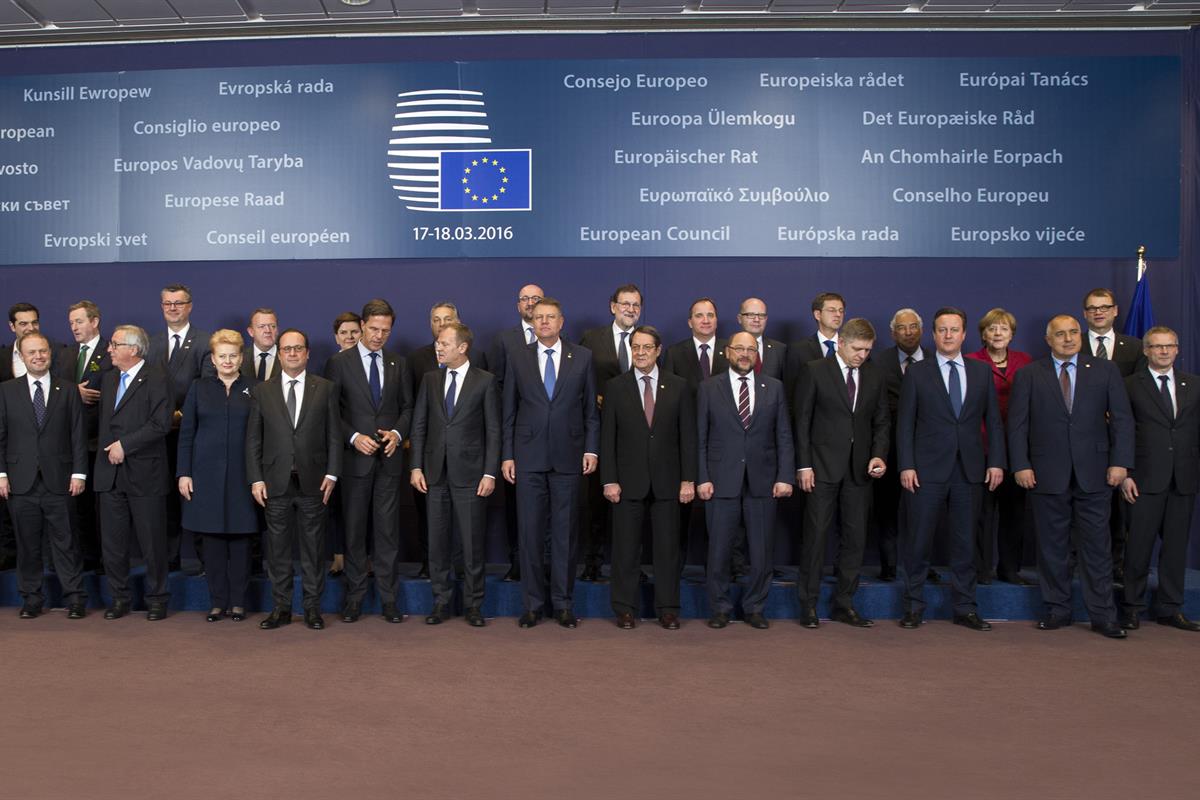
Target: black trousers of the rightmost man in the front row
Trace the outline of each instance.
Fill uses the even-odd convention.
[[[1170,491],[1142,493],[1129,509],[1129,541],[1124,553],[1126,613],[1146,610],[1146,584],[1154,543],[1162,537],[1158,551],[1158,591],[1154,594],[1154,616],[1171,616],[1183,608],[1183,581],[1188,561],[1188,533],[1195,494]]]

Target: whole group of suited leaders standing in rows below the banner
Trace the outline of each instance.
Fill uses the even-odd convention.
[[[578,344],[563,338],[564,309],[536,284],[518,291],[518,324],[486,353],[454,303],[439,302],[433,343],[404,359],[386,349],[394,309],[372,300],[334,321],[341,350],[324,375],[307,369],[307,335],[280,331],[269,308],[251,314],[247,343],[238,331],[194,329],[186,287],[166,287],[161,303],[164,330],[122,325],[104,341],[100,309],[80,301],[68,309],[76,345],[64,348],[41,335],[35,307],[10,309],[18,338],[0,353],[0,378],[16,378],[0,385],[0,498],[17,540],[24,618],[42,610],[43,540],[68,616],[86,614],[82,573],[97,567],[112,596],[104,616],[127,614],[134,537],[146,616],[164,618],[187,530],[199,537],[210,621],[246,618],[263,541],[274,609],[260,627],[292,621],[299,549],[304,621],[319,630],[332,529],[342,535],[334,547],[346,581],[341,619],[360,619],[373,573],[382,616],[400,622],[407,480],[427,546],[431,625],[454,616],[456,571],[466,621],[486,624],[486,515],[499,486],[521,627],[547,610],[575,627],[576,559],[582,579],[602,581],[610,545],[616,624],[635,627],[648,525],[660,625],[679,627],[688,539],[707,531],[708,625],[731,622],[730,587],[744,575],[743,619],[766,628],[775,518],[792,498],[782,509],[803,519],[805,627],[821,624],[832,530],[832,618],[872,625],[853,599],[874,517],[880,577],[902,582],[901,627],[923,621],[944,527],[954,621],[990,628],[976,585],[992,579],[997,557],[995,577],[1032,583],[1020,572],[1028,504],[1039,628],[1070,624],[1076,564],[1093,630],[1121,638],[1136,628],[1162,539],[1154,616],[1200,630],[1182,613],[1200,471],[1195,379],[1174,369],[1174,331],[1151,329],[1144,342],[1116,333],[1108,289],[1087,294],[1086,331],[1070,315],[1050,320],[1040,360],[1010,349],[1016,320],[1002,308],[979,321],[976,353],[964,353],[967,318],[952,307],[932,317],[934,348],[920,344],[920,315],[902,308],[890,323],[894,345],[876,350],[874,326],[845,319],[835,293],[814,299],[817,331],[791,344],[766,336],[757,297],[742,302],[738,332],[719,339],[716,303],[704,297],[689,309],[691,335],[665,347],[640,324],[643,297],[632,284],[612,294],[611,324]]]

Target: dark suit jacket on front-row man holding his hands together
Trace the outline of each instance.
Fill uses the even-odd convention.
[[[325,363],[325,378],[337,384],[338,408],[342,420],[342,445],[346,453],[342,465],[347,475],[362,477],[371,474],[376,462],[388,475],[401,475],[404,459],[401,453],[391,458],[382,455],[366,456],[350,444],[355,433],[374,435],[376,431],[396,431],[404,439],[413,421],[413,387],[408,379],[408,366],[391,350],[379,351],[379,371],[383,378],[383,397],[379,408],[371,399],[371,385],[358,345],[335,354]]]

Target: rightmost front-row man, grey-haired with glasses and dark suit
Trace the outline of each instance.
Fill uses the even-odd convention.
[[[1134,468],[1121,485],[1130,505],[1121,627],[1136,628],[1146,610],[1150,559],[1162,537],[1154,618],[1195,632],[1200,625],[1183,615],[1183,582],[1200,488],[1200,378],[1175,369],[1180,338],[1169,327],[1146,331],[1142,351],[1148,368],[1126,378],[1136,449]]]

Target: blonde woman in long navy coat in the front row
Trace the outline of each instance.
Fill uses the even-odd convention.
[[[184,401],[179,425],[179,493],[182,527],[204,540],[211,609],[246,619],[250,542],[258,516],[246,480],[246,419],[250,381],[241,377],[241,333],[220,330],[209,339],[217,374],[198,378]]]

